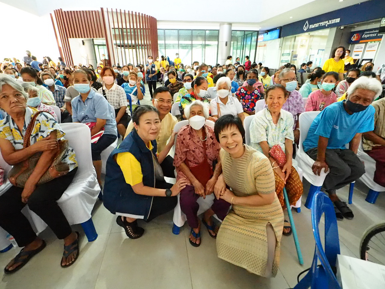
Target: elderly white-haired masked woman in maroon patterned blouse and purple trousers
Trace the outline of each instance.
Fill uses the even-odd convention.
[[[222,166],[219,159],[220,147],[214,129],[205,124],[209,117],[208,104],[199,100],[193,101],[184,108],[184,114],[189,124],[182,127],[178,133],[174,166],[177,171],[176,179],[188,180],[186,187],[181,190],[179,203],[191,227],[190,244],[198,247],[201,245],[201,224],[197,216],[199,209],[197,200],[199,197],[206,198],[214,192],[214,185],[222,172]],[[214,168],[215,161],[217,163]],[[202,222],[211,237],[216,238],[218,232],[211,217],[216,214],[223,220],[229,206],[228,202],[214,198],[213,205],[204,213]]]

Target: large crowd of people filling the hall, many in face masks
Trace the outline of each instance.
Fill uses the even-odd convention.
[[[72,265],[79,255],[79,235],[72,232],[57,205],[77,171],[70,146],[62,158],[69,172],[39,184],[58,143],[65,141],[52,106],[60,109],[62,123],[89,126],[100,197],[105,208],[117,215],[116,222],[127,237],[138,239],[145,234],[138,219],[151,222],[179,202],[191,227],[188,239],[192,246],[202,244],[202,222],[216,239],[219,258],[264,277],[276,276],[281,237],[291,234],[284,217],[290,208],[283,201],[283,189],[290,205],[303,194],[295,161],[301,113],[320,112],[303,149],[314,160],[314,174],[330,171],[321,190],[334,203],[339,220],[354,217],[336,190],[365,172],[356,155],[361,141],[363,151],[376,162],[374,181],[385,186],[385,101],[374,101],[382,92],[374,72],[365,69],[360,75],[352,68],[346,80],[340,81],[338,71],[316,67],[299,89],[296,67],[291,64],[269,75],[268,67],[251,63],[248,56],[244,64],[239,57],[234,65],[232,60],[229,56],[224,65],[195,61],[189,66],[181,63],[179,55],[174,62],[165,56],[153,61],[149,55],[144,65],[121,67],[101,62],[94,68],[66,66],[62,60],[58,66],[53,61],[39,66],[27,53],[24,65],[2,66],[2,157],[16,165],[41,153],[24,188],[12,185],[0,196],[0,227],[24,247],[5,273],[22,268],[46,245],[20,212],[26,204],[64,240],[62,267]],[[310,66],[303,63],[301,70],[309,71]],[[383,76],[381,71],[378,76]],[[157,87],[158,82],[162,85]],[[140,103],[145,84],[152,105]],[[307,97],[306,105],[303,97]],[[264,108],[256,110],[259,100],[264,101]],[[174,102],[179,102],[179,119],[171,114]],[[253,119],[245,128],[249,116]],[[31,119],[30,146],[20,150]],[[185,125],[174,132],[178,121]],[[249,144],[245,143],[246,129]],[[121,143],[107,160],[103,188],[101,154],[120,137]],[[170,154],[173,146],[174,155]],[[174,179],[174,184],[165,177]],[[198,199],[212,194],[200,220]],[[214,215],[220,225],[214,222]]]

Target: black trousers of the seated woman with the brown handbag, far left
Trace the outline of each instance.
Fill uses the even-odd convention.
[[[15,238],[19,247],[30,244],[36,238],[31,224],[21,212],[25,205],[42,218],[58,239],[64,239],[71,234],[72,229],[56,201],[62,197],[76,171],[77,168],[67,175],[37,186],[27,204],[22,202],[21,197],[24,188],[12,186],[0,196],[0,227]]]

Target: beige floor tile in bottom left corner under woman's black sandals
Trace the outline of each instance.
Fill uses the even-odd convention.
[[[33,257],[20,271],[4,275],[1,289],[94,289],[109,235],[99,235],[94,242],[82,237],[80,255],[68,268],[60,267],[63,254],[61,240],[49,240],[47,247]],[[12,249],[0,255],[3,268],[18,253]]]

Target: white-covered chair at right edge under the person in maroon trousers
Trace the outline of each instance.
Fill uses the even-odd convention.
[[[365,201],[374,204],[377,200],[379,192],[385,192],[385,188],[378,185],[378,183],[373,180],[374,172],[376,170],[376,161],[363,151],[362,141],[358,147],[357,156],[364,162],[365,165],[365,173],[360,178],[360,180],[369,188]]]

